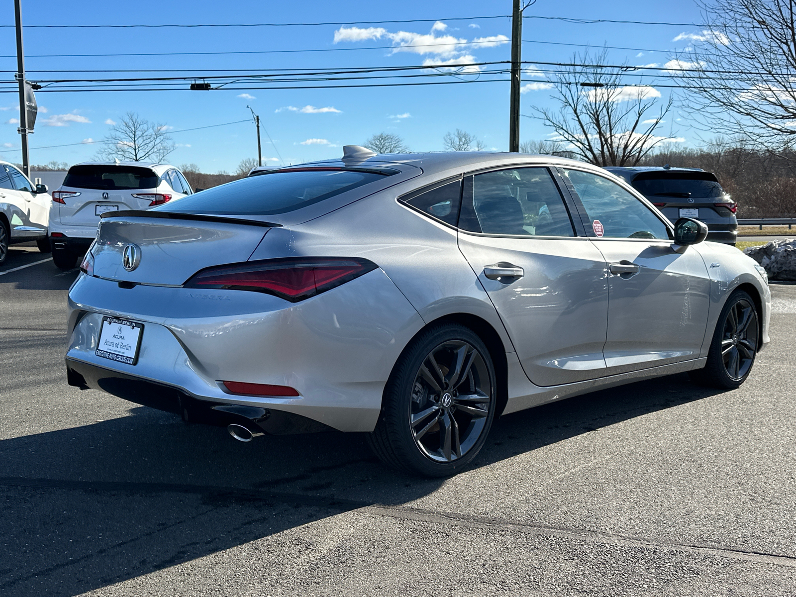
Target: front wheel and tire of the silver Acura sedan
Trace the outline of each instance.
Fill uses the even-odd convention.
[[[689,372],[696,382],[720,389],[739,388],[751,373],[759,349],[759,314],[746,292],[736,291],[716,322],[716,330],[703,369]]]

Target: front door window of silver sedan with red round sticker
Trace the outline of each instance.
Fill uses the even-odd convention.
[[[586,208],[595,236],[669,240],[669,230],[641,201],[614,181],[580,170],[564,170]]]

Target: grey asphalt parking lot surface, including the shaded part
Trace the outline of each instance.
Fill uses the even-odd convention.
[[[48,257],[0,267],[6,597],[796,595],[796,286],[772,285],[742,388],[678,375],[505,416],[428,481],[359,435],[244,444],[69,387],[77,271]]]

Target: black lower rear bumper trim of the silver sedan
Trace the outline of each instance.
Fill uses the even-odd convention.
[[[274,408],[200,400],[180,388],[70,358],[66,359],[66,374],[69,385],[81,389],[100,389],[135,404],[174,412],[191,423],[216,427],[227,427],[232,423],[245,424],[250,429],[259,427],[270,435],[317,433],[331,429],[314,419]]]

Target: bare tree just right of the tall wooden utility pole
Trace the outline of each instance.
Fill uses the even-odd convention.
[[[607,50],[572,57],[573,64],[552,76],[560,108],[534,107],[536,118],[556,132],[573,154],[597,166],[634,166],[659,143],[656,135],[672,100],[661,103],[650,86],[622,84],[622,69],[607,68]]]

